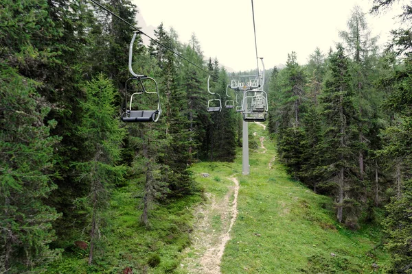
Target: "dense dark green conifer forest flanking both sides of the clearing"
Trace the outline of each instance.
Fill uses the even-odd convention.
[[[373,2],[366,12],[397,3]],[[139,27],[130,0],[99,3]],[[390,257],[380,271],[412,273],[412,6],[402,6],[403,28],[384,49],[364,12],[354,7],[328,53],[314,49],[298,64],[291,51],[284,68],[266,71],[265,124],[290,178],[332,199],[336,224],[378,227]],[[223,100],[232,77],[259,72],[228,73],[195,34],[181,42],[161,24],[161,45],[146,46],[137,32],[133,69],[159,83],[162,113],[157,123],[124,123],[132,36],[89,1],[1,0],[0,273],[80,273],[80,261],[82,273],[132,273],[127,254],[113,251],[112,234],[133,237],[113,226],[121,210],[139,215],[122,222],[146,237],[136,243],[142,254],[159,248],[148,239],[168,214],[172,237],[159,238],[179,243],[176,253],[190,245],[183,219],[192,216],[182,212],[204,192],[190,166],[233,162],[242,146],[241,114],[207,112],[207,77]],[[135,273],[154,273],[160,259],[149,255],[133,259]]]

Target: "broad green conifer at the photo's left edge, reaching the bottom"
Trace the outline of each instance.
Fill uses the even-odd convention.
[[[36,92],[41,84],[4,63],[0,71],[0,272],[28,273],[58,256],[49,243],[59,214],[44,203],[56,188],[56,121],[44,122],[49,106]]]

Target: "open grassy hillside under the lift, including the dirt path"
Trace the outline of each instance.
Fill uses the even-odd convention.
[[[336,223],[330,198],[314,194],[286,175],[262,129],[256,124],[249,127],[256,132],[254,142],[259,147],[251,151],[249,176],[240,175],[240,153],[233,164],[203,162],[192,167],[206,201],[193,210],[197,219],[193,245],[185,251],[188,259],[178,272],[219,273],[207,256],[225,238],[233,214],[222,209],[233,206],[231,178],[238,178],[238,214],[221,273],[379,273],[389,260],[376,248],[379,228],[354,232]]]

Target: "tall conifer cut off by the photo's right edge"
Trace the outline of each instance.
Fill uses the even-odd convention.
[[[389,8],[396,1],[375,0],[373,12]],[[392,73],[381,77],[380,87],[391,90],[385,101],[385,107],[393,113],[391,126],[382,132],[383,158],[389,160],[389,168],[394,172],[392,183],[391,203],[387,206],[387,218],[384,221],[388,234],[387,248],[391,252],[389,273],[411,273],[412,235],[411,204],[412,204],[412,46],[411,21],[412,8],[410,3],[403,3],[402,14],[399,16],[403,23],[400,29],[393,30],[389,49],[396,55],[404,55],[400,66],[393,66]],[[393,59],[392,59],[393,60]]]

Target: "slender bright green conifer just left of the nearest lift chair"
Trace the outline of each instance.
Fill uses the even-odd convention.
[[[95,246],[100,237],[102,212],[108,206],[111,188],[123,179],[124,166],[117,165],[125,131],[116,117],[117,105],[113,84],[103,75],[89,82],[82,103],[84,117],[79,132],[84,136],[84,150],[93,158],[77,164],[79,178],[89,186],[89,195],[78,199],[78,205],[90,214],[89,264],[93,262]]]

